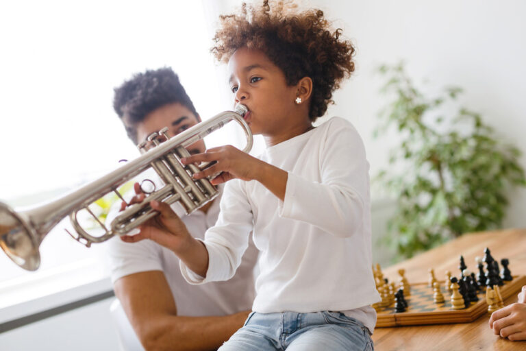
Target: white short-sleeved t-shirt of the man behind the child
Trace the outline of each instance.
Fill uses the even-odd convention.
[[[219,214],[220,197],[216,197],[207,213],[195,210],[190,215],[181,215],[190,234],[203,239],[205,231],[214,226]],[[181,213],[177,204],[176,213]],[[162,245],[151,240],[125,243],[118,237],[108,241],[108,256],[112,282],[123,276],[143,271],[162,271],[173,293],[177,315],[201,317],[229,315],[250,310],[254,300],[253,269],[258,250],[253,243],[242,258],[234,277],[225,282],[205,285],[190,285],[179,269],[179,258]]]

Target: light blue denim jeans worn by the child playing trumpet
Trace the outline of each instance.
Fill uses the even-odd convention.
[[[218,351],[373,350],[369,330],[340,312],[256,313]]]

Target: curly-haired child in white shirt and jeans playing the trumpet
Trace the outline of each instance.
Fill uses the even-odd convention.
[[[198,173],[227,182],[216,226],[193,239],[166,204],[133,242],[149,238],[181,259],[186,280],[229,279],[249,233],[260,250],[253,312],[220,350],[370,350],[379,301],[371,271],[368,162],[351,123],[314,128],[332,92],[354,70],[351,43],[323,12],[282,1],[222,16],[216,58],[228,62],[235,103],[262,134],[253,158],[231,146],[181,160],[216,161]],[[140,197],[142,195],[139,195]]]

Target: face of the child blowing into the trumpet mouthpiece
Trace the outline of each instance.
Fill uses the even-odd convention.
[[[297,124],[293,116],[297,87],[286,84],[283,71],[262,51],[238,49],[229,60],[228,73],[235,103],[249,109],[245,120],[253,134],[276,138]]]

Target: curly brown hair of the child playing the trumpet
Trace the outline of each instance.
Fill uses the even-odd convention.
[[[220,16],[216,45],[211,51],[227,62],[237,49],[258,49],[284,72],[288,85],[302,77],[313,82],[309,118],[323,116],[332,92],[354,71],[355,49],[341,40],[342,29],[331,29],[321,10],[294,13],[289,1],[263,1],[260,8],[247,3],[237,14]]]

